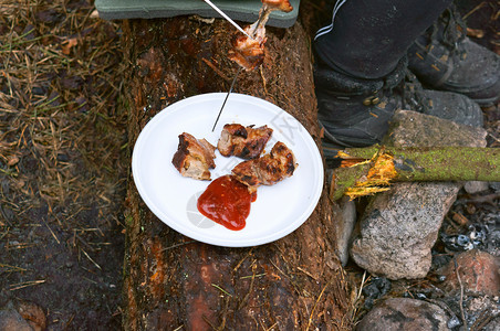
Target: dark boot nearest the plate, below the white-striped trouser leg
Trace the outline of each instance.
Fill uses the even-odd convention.
[[[463,95],[426,90],[400,61],[382,79],[360,79],[324,65],[314,71],[319,120],[337,147],[365,147],[382,140],[396,109],[407,109],[459,124],[482,126],[479,106]]]

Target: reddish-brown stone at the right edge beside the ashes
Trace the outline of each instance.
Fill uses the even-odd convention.
[[[455,265],[455,261],[457,265]],[[500,258],[478,249],[463,252],[451,259],[439,270],[446,276],[442,286],[446,290],[460,289],[460,277],[463,289],[467,292],[498,296],[500,295]]]

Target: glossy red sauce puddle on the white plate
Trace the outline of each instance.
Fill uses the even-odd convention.
[[[198,211],[229,229],[241,229],[250,214],[250,204],[257,192],[250,193],[246,184],[232,175],[222,175],[212,181],[198,197]]]

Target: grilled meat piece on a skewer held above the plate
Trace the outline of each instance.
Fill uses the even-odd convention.
[[[229,58],[247,71],[257,68],[264,61],[264,44],[268,40],[264,25],[274,10],[290,12],[293,7],[289,0],[262,0],[259,20],[244,28],[244,31],[253,39],[244,34],[237,34],[231,41],[233,49],[229,51]]]

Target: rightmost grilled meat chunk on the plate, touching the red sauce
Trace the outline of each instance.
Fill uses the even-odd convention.
[[[273,185],[291,177],[296,167],[293,152],[278,141],[269,154],[239,163],[232,169],[232,174],[254,191],[259,185]]]

